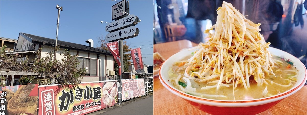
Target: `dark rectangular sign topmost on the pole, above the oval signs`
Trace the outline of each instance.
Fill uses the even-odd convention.
[[[122,11],[126,12],[126,0],[122,0],[112,6],[112,20],[126,15]]]

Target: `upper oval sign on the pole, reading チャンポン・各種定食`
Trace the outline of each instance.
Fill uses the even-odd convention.
[[[135,15],[131,14],[128,15],[126,17],[123,17],[117,21],[111,22],[106,26],[106,31],[110,32],[112,30],[115,29],[119,29],[121,27],[127,26],[127,25],[131,25],[134,24],[134,21],[136,20]],[[136,24],[138,23],[138,21],[136,21]]]

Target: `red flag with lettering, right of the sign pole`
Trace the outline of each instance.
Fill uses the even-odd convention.
[[[143,73],[144,65],[141,48],[131,49],[131,55],[135,71],[137,73]]]

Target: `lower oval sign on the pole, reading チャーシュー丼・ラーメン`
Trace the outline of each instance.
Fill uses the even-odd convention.
[[[108,33],[106,36],[106,41],[114,41],[114,40],[119,40],[121,38],[127,39],[126,37],[135,37],[139,33],[138,28],[135,28],[134,26],[130,26],[125,29],[121,29],[112,33]]]

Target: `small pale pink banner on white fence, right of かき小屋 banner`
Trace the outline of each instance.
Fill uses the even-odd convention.
[[[122,91],[123,100],[145,95],[144,79],[123,79]]]

